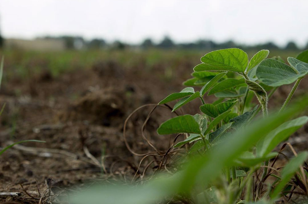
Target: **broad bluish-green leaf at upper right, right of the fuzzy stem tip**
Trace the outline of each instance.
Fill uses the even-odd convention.
[[[291,84],[305,76],[308,71],[297,73],[297,70],[275,59],[263,60],[256,71],[257,78],[268,86]]]

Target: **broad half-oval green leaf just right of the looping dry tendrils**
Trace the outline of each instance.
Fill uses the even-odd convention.
[[[159,135],[174,133],[196,133],[201,134],[199,124],[193,116],[184,115],[171,118],[160,125],[157,129]]]

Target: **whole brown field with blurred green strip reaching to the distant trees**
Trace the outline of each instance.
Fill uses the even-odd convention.
[[[6,50],[0,91],[1,147],[20,140],[46,143],[15,145],[0,157],[0,191],[18,192],[0,197],[0,202],[47,203],[73,185],[96,180],[125,180],[134,177],[143,154],[152,147],[141,128],[153,106],[145,107],[124,121],[134,109],[157,104],[170,93],[184,88],[182,82],[200,58],[209,51],[103,50],[31,52]],[[248,51],[249,58],[256,51]],[[269,57],[296,56],[293,52],[270,51]],[[294,98],[306,92],[302,80]],[[270,108],[279,108],[292,84],[280,87]],[[205,98],[213,102],[214,97]],[[194,101],[193,104],[199,104]],[[257,103],[257,100],[254,101]],[[182,112],[193,114],[199,106]],[[200,111],[199,111],[200,112]],[[156,134],[164,120],[174,116],[157,108],[145,127],[155,148],[166,151],[173,137]],[[296,151],[307,147],[307,124],[289,142]],[[129,151],[127,145],[131,148]],[[135,179],[151,175],[155,157],[145,158]],[[281,161],[283,162],[283,161]]]

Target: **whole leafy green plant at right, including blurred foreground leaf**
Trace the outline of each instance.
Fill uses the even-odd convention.
[[[294,192],[301,192],[307,199],[307,166],[303,163],[308,153],[295,153],[285,167],[275,169],[280,152],[274,149],[308,121],[307,116],[297,117],[307,108],[307,96],[287,107],[300,80],[307,75],[308,51],[297,58],[289,57],[290,66],[279,57],[266,59],[268,54],[268,50],[261,50],[249,60],[238,48],[209,52],[193,68],[193,78],[183,83],[190,87],[159,102],[170,106],[178,100],[173,112],[189,108],[191,101],[200,99],[200,112],[178,115],[157,129],[160,135],[186,135],[171,147],[187,152],[178,168],[174,165],[172,176],[157,176],[138,187],[91,187],[73,202],[143,204],[183,198],[179,203],[274,204],[278,198],[293,202]],[[268,100],[277,87],[294,82],[282,108],[269,111]],[[195,91],[191,86],[201,89]],[[205,103],[208,95],[218,99]],[[251,104],[253,96],[259,102],[257,106]],[[260,107],[263,116],[258,116]]]

